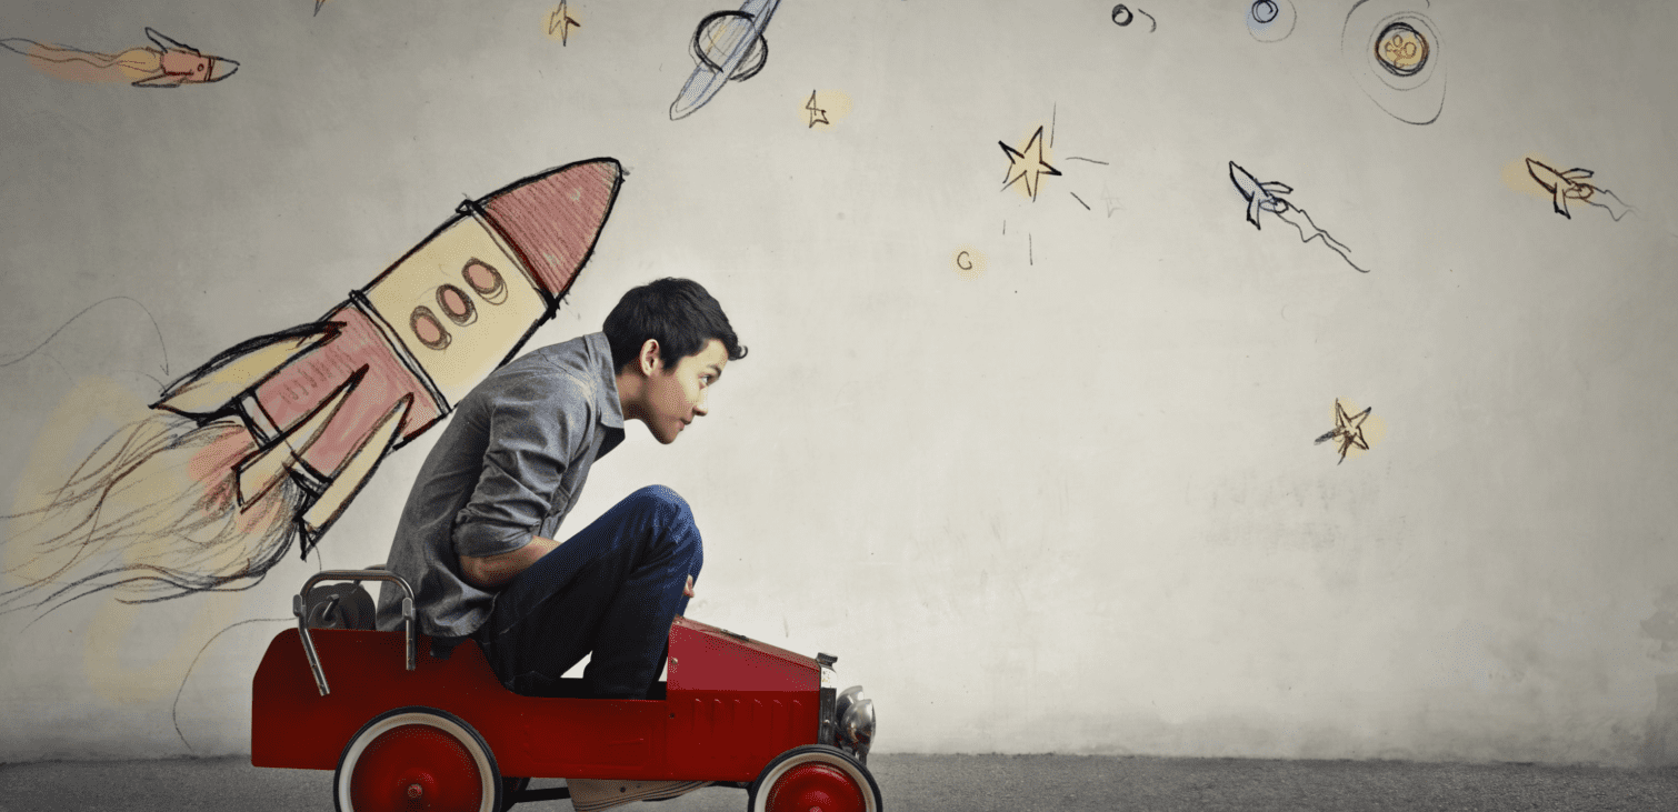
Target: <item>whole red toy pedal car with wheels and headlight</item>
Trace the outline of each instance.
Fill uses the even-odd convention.
[[[404,631],[374,631],[359,584],[391,580]],[[466,639],[446,659],[414,632],[396,574],[327,570],[292,601],[297,629],[268,644],[252,690],[250,763],[337,770],[342,812],[500,812],[569,797],[530,777],[706,780],[747,790],[752,812],[878,812],[868,770],[873,700],[836,691],[816,659],[703,622],[670,627],[668,679],[648,700],[522,696]],[[440,646],[438,646],[440,649]],[[331,683],[329,683],[331,678]],[[559,693],[581,693],[562,679]]]

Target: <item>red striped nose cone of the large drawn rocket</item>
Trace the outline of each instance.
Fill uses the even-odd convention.
[[[623,185],[623,164],[594,158],[515,181],[478,201],[490,225],[554,299],[571,289]]]

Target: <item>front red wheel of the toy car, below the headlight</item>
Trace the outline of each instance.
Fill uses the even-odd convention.
[[[844,750],[795,747],[769,762],[747,795],[750,812],[879,812],[879,783]]]

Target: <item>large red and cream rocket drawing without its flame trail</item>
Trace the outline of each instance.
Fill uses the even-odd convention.
[[[587,262],[623,183],[618,161],[520,180],[456,215],[320,320],[242,342],[153,404],[206,423],[237,416],[242,508],[300,487],[304,552],[384,455],[445,414],[549,320]]]

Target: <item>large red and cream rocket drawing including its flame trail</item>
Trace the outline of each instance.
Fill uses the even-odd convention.
[[[470,200],[320,320],[169,384],[40,508],[8,517],[34,525],[8,540],[29,545],[8,567],[25,584],[0,612],[248,589],[294,540],[307,557],[386,455],[554,315],[621,183],[601,158]]]

